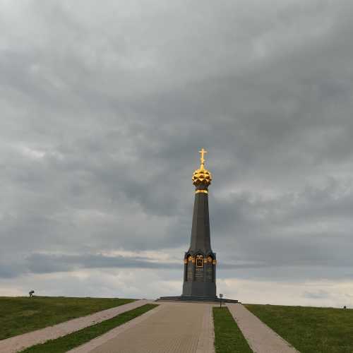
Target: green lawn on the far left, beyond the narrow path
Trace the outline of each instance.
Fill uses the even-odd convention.
[[[0,297],[0,340],[55,325],[134,299]]]

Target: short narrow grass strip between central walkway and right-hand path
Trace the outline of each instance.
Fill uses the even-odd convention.
[[[228,308],[213,308],[216,353],[252,353]]]

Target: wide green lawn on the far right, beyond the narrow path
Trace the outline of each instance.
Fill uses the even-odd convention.
[[[352,353],[353,310],[247,304],[301,353]]]

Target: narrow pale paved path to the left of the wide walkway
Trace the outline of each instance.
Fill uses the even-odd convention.
[[[143,306],[149,303],[153,303],[153,301],[141,299],[138,301],[133,301],[132,303],[116,306],[115,308],[98,311],[97,313],[92,313],[88,316],[74,318],[73,320],[59,323],[58,325],[41,328],[40,330],[35,330],[30,333],[24,333],[23,335],[7,338],[6,340],[0,341],[0,352],[18,352],[19,350],[25,349],[32,345],[37,345],[38,343],[43,343],[47,340],[53,340],[54,338],[68,335],[69,333],[81,330],[82,328],[94,325],[95,323],[100,323],[108,320],[109,318],[113,318],[114,316],[119,315],[119,313],[124,313],[125,311],[132,310],[138,308],[138,306]]]

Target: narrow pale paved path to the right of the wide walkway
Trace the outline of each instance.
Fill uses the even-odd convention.
[[[297,349],[241,304],[227,304],[227,306],[253,352],[298,353]]]

